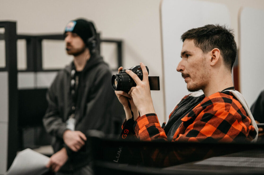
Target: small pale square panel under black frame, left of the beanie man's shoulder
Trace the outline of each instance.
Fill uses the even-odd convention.
[[[35,76],[34,72],[18,72],[17,74],[17,86],[18,89],[35,88]]]

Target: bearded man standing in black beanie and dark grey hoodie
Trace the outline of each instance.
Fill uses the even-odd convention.
[[[87,130],[113,133],[113,121],[122,122],[123,108],[112,90],[109,67],[96,51],[94,24],[70,21],[64,41],[74,59],[59,71],[47,93],[43,123],[54,136],[55,154],[46,167],[57,174],[92,174],[85,134]]]

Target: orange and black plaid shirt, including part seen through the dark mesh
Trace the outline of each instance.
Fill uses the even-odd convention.
[[[187,97],[188,95],[181,102]],[[179,104],[174,110],[178,108]],[[229,91],[218,92],[205,97],[181,121],[182,123],[175,131],[172,142],[251,141],[257,134],[243,106]],[[146,114],[137,118],[134,123],[134,131],[136,137],[143,141],[168,140],[156,114]],[[217,150],[190,147],[162,151],[160,149],[148,149],[141,153],[145,164],[164,167],[188,162],[190,159],[194,161],[194,157],[199,160],[201,157],[215,156],[214,152]]]

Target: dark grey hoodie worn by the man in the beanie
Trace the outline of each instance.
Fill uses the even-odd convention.
[[[58,72],[47,92],[48,109],[43,124],[48,133],[54,136],[54,152],[65,147],[69,160],[61,168],[73,170],[90,162],[88,149],[72,152],[63,142],[66,121],[72,108],[70,94],[70,72],[73,62]],[[125,118],[122,105],[119,103],[111,86],[111,72],[102,57],[93,55],[87,61],[80,74],[77,103],[75,110],[75,130],[86,134],[88,130],[100,130],[107,134],[117,134]],[[116,133],[114,133],[116,132]],[[120,130],[121,132],[121,130]],[[100,145],[98,145],[100,146]],[[87,144],[85,146],[87,148]]]

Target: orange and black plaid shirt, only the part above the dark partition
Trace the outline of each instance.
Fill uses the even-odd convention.
[[[185,96],[182,101],[187,97]],[[233,142],[243,138],[253,140],[257,134],[242,104],[229,91],[205,97],[181,121],[172,141],[202,142],[211,138],[217,142]],[[150,141],[157,138],[167,140],[156,114],[139,117],[134,124],[134,130],[140,140]]]

